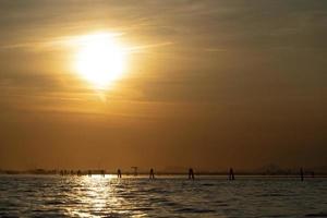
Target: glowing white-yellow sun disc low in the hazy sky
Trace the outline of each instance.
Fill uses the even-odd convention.
[[[110,34],[86,35],[78,40],[74,68],[87,82],[105,88],[122,76],[125,51]]]

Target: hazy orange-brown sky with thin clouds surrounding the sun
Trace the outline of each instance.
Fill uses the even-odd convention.
[[[129,50],[99,89],[78,36]],[[327,166],[327,1],[0,0],[0,169]]]

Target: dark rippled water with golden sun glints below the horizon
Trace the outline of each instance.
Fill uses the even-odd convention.
[[[327,217],[327,180],[0,175],[0,217]]]

